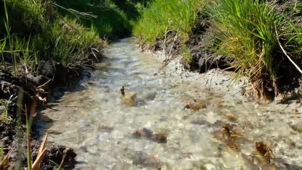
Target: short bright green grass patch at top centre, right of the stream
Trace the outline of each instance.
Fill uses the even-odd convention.
[[[198,12],[206,0],[154,0],[135,25],[133,34],[143,43],[154,45],[167,31],[177,32],[182,41],[188,40],[195,28]]]

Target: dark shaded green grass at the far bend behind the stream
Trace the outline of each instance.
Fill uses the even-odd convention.
[[[101,37],[125,37],[149,0],[55,0],[59,11],[80,23],[93,24]],[[71,9],[70,9],[71,8]],[[68,10],[67,10],[68,9]],[[76,10],[76,11],[75,11]],[[85,14],[79,12],[86,12]]]

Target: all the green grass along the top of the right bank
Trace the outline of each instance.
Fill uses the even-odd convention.
[[[208,17],[207,31],[216,40],[215,48],[208,50],[227,56],[237,77],[248,76],[263,94],[264,88],[276,90],[277,80],[289,76],[290,70],[297,71],[278,40],[291,58],[301,63],[301,4],[297,0],[154,0],[133,33],[142,43],[154,47],[166,30],[177,32],[184,46],[189,36],[194,38],[192,30],[202,22],[200,19]],[[189,53],[184,46],[187,62],[192,60]]]

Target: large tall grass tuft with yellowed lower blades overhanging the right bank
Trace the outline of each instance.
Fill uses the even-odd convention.
[[[231,58],[237,73],[252,82],[275,79],[275,24],[280,27],[281,17],[274,6],[259,0],[222,0],[210,13],[219,39],[217,53]]]

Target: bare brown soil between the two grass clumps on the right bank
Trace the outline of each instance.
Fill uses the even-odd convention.
[[[226,56],[215,55],[213,51],[208,48],[215,48],[214,39],[211,33],[211,27],[209,26],[209,20],[200,16],[196,28],[189,35],[189,39],[184,43],[188,48],[190,55],[192,56],[191,62],[186,62],[182,59],[181,63],[186,69],[190,71],[198,71],[199,73],[205,73],[210,69],[227,69],[230,61]],[[166,42],[164,43],[164,37],[158,38],[154,45],[154,51],[162,51],[165,48],[165,55],[171,56],[171,59],[178,55],[183,54],[184,45],[181,43],[181,38],[176,37],[175,32],[168,32],[166,36]],[[152,48],[146,45],[142,46],[143,49],[151,50]],[[228,69],[231,70],[231,69]]]

